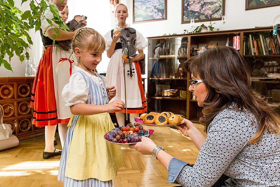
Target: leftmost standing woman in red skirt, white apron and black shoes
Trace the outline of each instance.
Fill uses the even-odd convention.
[[[50,5],[57,8],[58,11],[66,12],[67,0],[52,0]],[[65,9],[64,9],[65,8]],[[46,18],[52,19],[52,12],[46,10]],[[65,16],[63,16],[65,19]],[[58,28],[55,23],[51,26],[46,18],[41,21],[40,34],[45,48],[44,54],[40,60],[37,74],[34,80],[30,107],[34,108],[33,124],[36,127],[45,126],[45,150],[43,159],[61,154],[61,151],[54,148],[54,134],[58,124],[60,141],[63,146],[65,134],[67,132],[67,123],[71,117],[69,108],[64,106],[64,100],[61,97],[62,89],[69,82],[69,63],[59,67],[58,74],[54,71],[61,56],[69,56],[70,52],[63,50],[59,45],[59,40],[72,39],[76,32],[68,32],[59,29],[60,35],[56,34],[56,42],[53,45],[52,36],[55,34],[54,27]],[[86,23],[84,23],[86,24]]]

